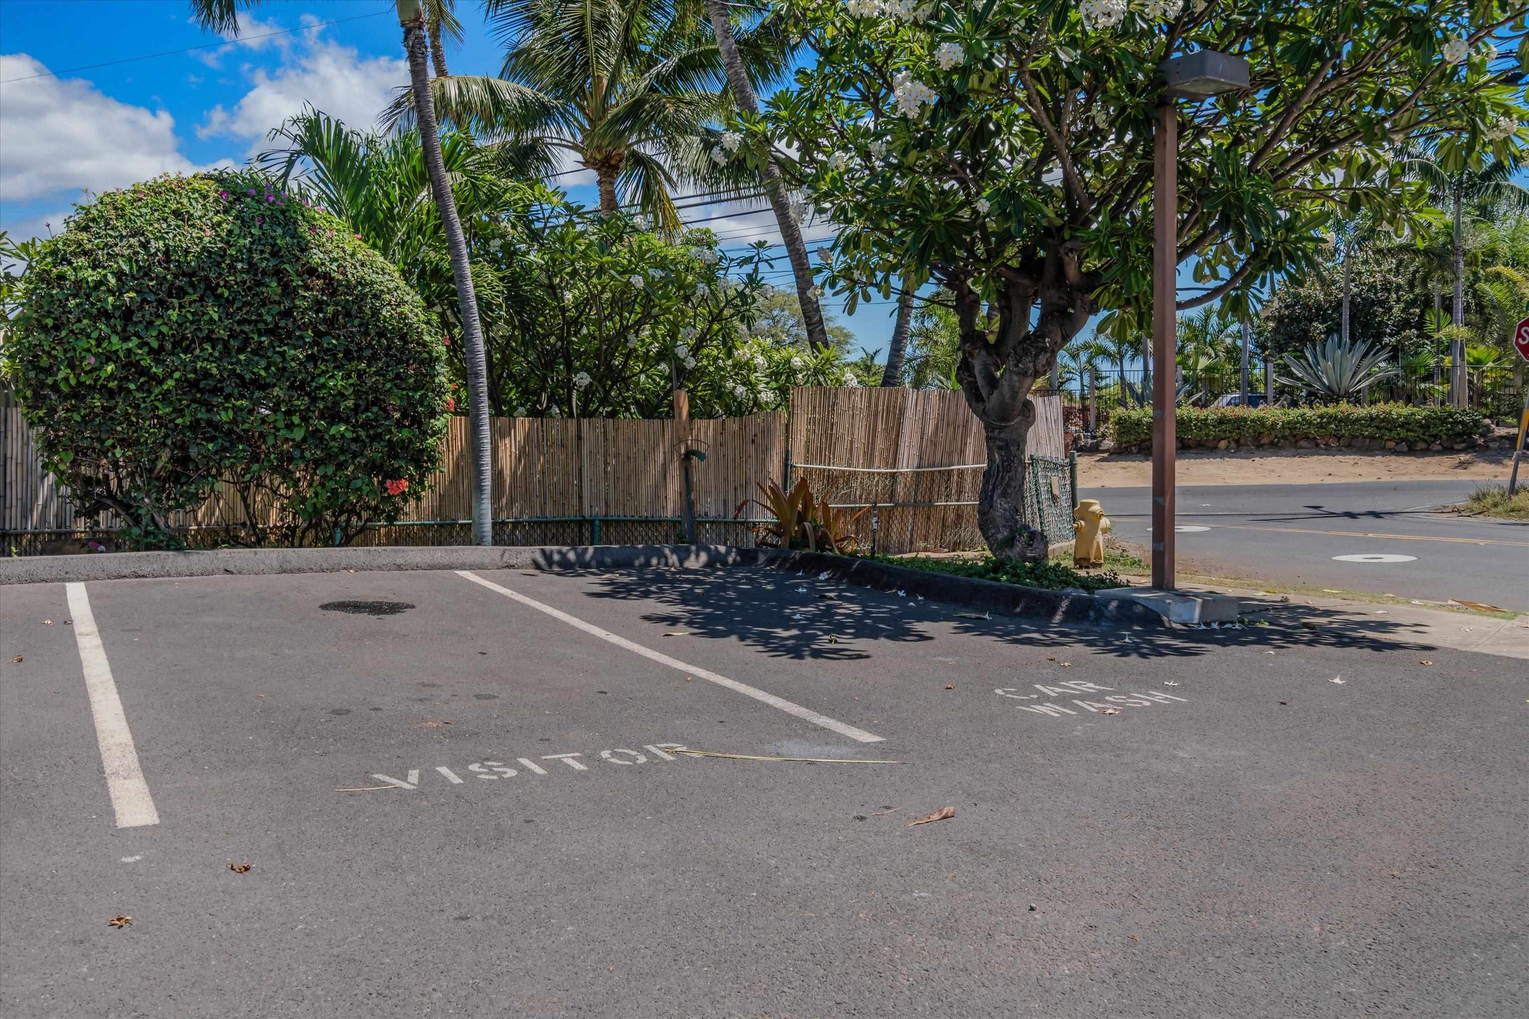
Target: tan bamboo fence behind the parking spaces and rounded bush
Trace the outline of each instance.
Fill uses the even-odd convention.
[[[1031,432],[1032,449],[1061,454],[1061,411],[1053,397]],[[835,504],[878,504],[878,548],[976,547],[974,509],[985,460],[982,428],[959,393],[916,390],[792,390],[790,412],[693,420],[492,420],[495,542],[633,544],[682,536],[688,446],[697,539],[752,544],[751,500],[769,481],[807,477]],[[43,471],[20,408],[0,394],[0,536],[9,552],[72,552],[92,533],[119,524],[86,518]],[[398,521],[367,529],[359,544],[468,541],[472,463],[468,419],[453,417],[431,484]],[[271,506],[255,506],[261,516]],[[237,544],[248,522],[232,487],[171,522],[191,544]],[[870,515],[861,521],[870,538]],[[73,545],[73,547],[70,547]]]

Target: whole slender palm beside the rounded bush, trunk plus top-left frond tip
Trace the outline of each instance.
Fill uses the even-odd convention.
[[[260,2],[188,0],[193,17],[203,29],[223,34],[237,34],[239,12],[260,6]],[[457,309],[462,316],[462,339],[468,362],[468,399],[472,419],[472,538],[480,545],[492,545],[494,521],[489,503],[492,467],[489,463],[488,371],[483,354],[483,328],[479,322],[472,273],[468,269],[468,244],[462,234],[457,205],[453,200],[446,167],[440,156],[440,133],[436,128],[436,110],[430,95],[422,0],[394,0],[394,5],[398,6],[398,21],[404,27],[410,92],[414,98],[414,118],[419,124],[419,139],[425,157],[425,170],[430,176],[430,191],[434,196],[436,209],[440,212],[440,225],[446,235],[446,254],[451,258],[451,275],[457,286]],[[450,78],[443,78],[442,81],[450,81]]]

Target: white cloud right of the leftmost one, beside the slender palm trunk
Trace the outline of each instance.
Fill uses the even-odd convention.
[[[301,55],[284,49],[275,72],[255,69],[251,81],[254,89],[231,110],[219,104],[208,112],[197,137],[246,139],[255,153],[263,148],[266,133],[301,113],[304,102],[347,127],[375,130],[394,90],[408,84],[408,64],[402,57],[362,58],[349,46],[317,43]]]

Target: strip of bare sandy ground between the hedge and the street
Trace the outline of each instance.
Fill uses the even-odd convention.
[[[1321,481],[1430,481],[1471,478],[1506,481],[1508,451],[1486,452],[1349,452],[1324,449],[1258,449],[1249,452],[1180,451],[1177,483],[1188,484],[1312,484]],[[1520,466],[1520,478],[1524,467]],[[1151,457],[1078,454],[1079,487],[1151,484]]]

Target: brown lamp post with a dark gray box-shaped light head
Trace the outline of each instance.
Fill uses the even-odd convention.
[[[1151,267],[1151,585],[1171,591],[1174,519],[1174,339],[1179,270],[1179,107],[1177,99],[1205,99],[1248,87],[1248,61],[1208,49],[1157,66],[1162,104],[1153,134]]]

